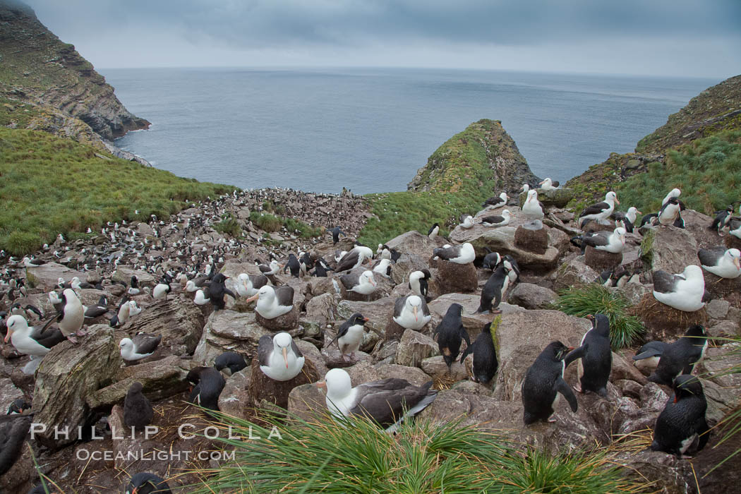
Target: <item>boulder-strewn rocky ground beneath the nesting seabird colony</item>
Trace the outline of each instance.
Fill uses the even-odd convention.
[[[348,237],[333,245],[329,233],[314,239],[302,239],[287,231],[265,236],[248,218],[250,211],[264,207],[268,200],[282,204],[285,216],[314,226],[339,225]],[[325,410],[323,395],[312,384],[304,383],[316,380],[315,375],[321,378],[332,367],[346,367],[353,384],[386,377],[405,378],[413,384],[432,379],[441,391],[436,401],[422,412],[422,417],[450,421],[462,416],[464,424],[506,430],[522,444],[551,450],[611,446],[616,461],[628,469],[626,473],[639,471],[648,481],[654,481],[653,491],[694,493],[699,485],[707,493],[717,492],[718,485],[730,485],[728,482],[739,471],[739,458],[700,478],[722,458],[722,451],[728,452],[711,448],[720,437],[715,431],[708,447],[692,460],[647,450],[651,428],[671,390],[648,382],[632,365],[635,348],[614,352],[607,398],[579,394],[576,413],[571,413],[562,401],[556,407],[554,424],[522,426],[519,387],[525,371],[548,343],[558,339],[576,346],[590,327],[586,319],[550,308],[556,300],[554,290],[593,282],[599,273],[591,266],[599,267],[604,259],[589,253],[586,257],[579,256],[569,243],[576,227],[574,215],[556,207],[551,207],[545,218],[548,236],[545,252],[533,253],[519,246],[516,228],[524,218],[518,215],[516,204],[508,209],[516,216],[507,227],[491,228],[477,223],[471,229],[458,227],[451,232],[451,243],[468,241],[475,247],[477,258],[473,266],[434,261],[432,250],[444,243],[443,239],[433,241],[416,232],[390,239],[388,247],[398,250],[401,257],[392,266],[391,278],[376,276],[378,288],[370,296],[339,291],[332,278],[276,276],[276,283],[294,287],[295,309],[285,319],[290,321],[285,329],[305,355],[305,369],[311,378],[299,375],[304,381],[289,381],[291,384],[265,393],[262,384],[256,385],[262,383],[259,370],[253,371],[248,366],[227,378],[219,398],[221,410],[242,418],[253,418],[256,410],[269,406],[268,402],[287,406],[299,415],[311,409]],[[232,238],[213,229],[225,213],[231,213],[239,221],[245,236]],[[640,250],[644,238],[639,233],[628,235],[622,260],[618,261],[631,272],[640,271],[640,280],[611,290],[622,291],[639,314],[642,304],[650,302],[647,297],[651,298],[653,270],[679,273],[687,264],[697,264],[699,247],[722,244],[724,240],[706,229],[711,218],[692,211],[686,211],[684,217],[686,230],[654,229],[650,250],[644,243],[647,252]],[[239,273],[259,273],[254,259],[267,261],[270,255],[282,261],[288,253],[301,250],[330,261],[336,249],[352,247],[352,239],[367,218],[361,198],[290,190],[245,191],[205,204],[193,204],[169,221],[153,218],[148,223],[119,225],[118,230],[111,227],[105,234],[72,244],[58,241],[38,253],[39,258],[50,261],[41,267],[23,268],[18,261],[5,259],[4,277],[25,278],[27,295],[19,297],[17,290],[5,293],[0,310],[9,309],[15,303],[21,306],[33,303],[45,313],[53,313],[47,293],[53,290],[58,278],[70,281],[73,276],[79,276],[82,280],[102,281],[102,291],[77,292],[84,304],[95,303],[102,293],[110,296],[110,317],[125,290],[117,281],[128,281],[134,273],[142,286],[150,288],[166,270],[195,274],[196,270],[202,272],[210,261],[216,261],[220,270],[232,279]],[[448,373],[432,338],[433,330],[454,302],[464,307],[463,324],[472,341],[493,320],[491,314],[473,314],[479,305],[482,284],[490,275],[480,267],[484,247],[502,256],[514,256],[522,268],[519,282],[508,291],[500,307],[502,318],[496,332],[499,372],[488,386],[469,380],[465,367],[459,363],[453,364]],[[391,321],[393,304],[397,297],[409,293],[408,274],[422,268],[429,268],[432,273],[429,302],[432,319],[420,331],[404,330]],[[741,280],[721,281],[705,273],[705,281],[714,300],[695,316],[712,336],[738,335]],[[190,430],[196,433],[207,426],[207,418],[185,403],[188,391],[185,375],[195,366],[212,365],[214,358],[225,350],[238,351],[249,361],[255,356],[259,337],[275,331],[262,326],[253,306],[247,306],[243,300],[227,297],[227,308],[213,312],[210,306],[193,304],[192,294],[185,292],[181,284],[173,283],[172,287],[173,293],[166,301],[154,301],[148,293],[134,296],[143,311],[123,327],[113,330],[102,320],[102,324],[87,327],[89,334],[79,344],[57,345],[44,357],[35,376],[21,373],[27,357],[17,355],[10,344],[4,346],[0,360],[0,406],[7,407],[13,399],[23,396],[33,403],[34,422],[47,424],[48,429],[36,435],[30,441],[31,448],[24,449],[19,461],[0,477],[1,492],[25,492],[36,484],[32,450],[42,473],[57,481],[65,492],[79,493],[119,489],[128,475],[142,471],[169,478],[176,492],[187,492],[187,487],[182,486],[198,481],[198,477],[186,472],[221,463],[219,453],[207,458],[165,455],[165,459],[153,460],[131,459],[130,455],[133,452],[163,455],[179,451],[217,452],[222,447],[218,441],[181,438],[177,434],[181,424],[192,424]],[[357,361],[346,363],[329,342],[339,324],[355,312],[370,321],[366,324],[362,351],[356,353]],[[647,318],[644,323],[648,339],[660,336],[672,340],[686,330],[686,326],[668,324],[666,319]],[[162,335],[162,344],[153,356],[124,365],[118,342],[139,331]],[[711,424],[741,404],[741,378],[719,375],[724,367],[738,363],[723,357],[728,350],[724,346],[709,349],[708,358],[699,370],[708,397]],[[565,376],[572,385],[576,384],[575,369],[569,367]],[[144,393],[153,401],[156,411],[153,425],[159,426],[159,431],[148,438],[142,433],[113,438],[110,428],[115,430],[116,424],[121,424],[123,398],[134,381],[144,384]],[[88,433],[83,434],[82,440],[76,433],[69,438],[55,438],[54,426],[70,426],[73,430],[82,426],[84,431],[95,427],[102,439],[91,440]],[[110,458],[98,459],[92,452],[113,453],[108,453]]]

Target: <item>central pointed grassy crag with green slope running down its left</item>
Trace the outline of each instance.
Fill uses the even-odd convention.
[[[365,196],[376,218],[368,220],[359,241],[376,245],[409,230],[427,233],[433,223],[451,228],[462,213],[476,213],[487,198],[531,177],[501,122],[479,120],[430,156],[410,184],[417,190]]]

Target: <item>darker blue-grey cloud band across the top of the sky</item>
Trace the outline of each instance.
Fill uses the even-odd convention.
[[[682,0],[30,0],[70,23],[144,24],[233,47],[480,44],[592,36],[737,36],[741,1]],[[88,16],[92,17],[89,19]],[[113,26],[111,25],[113,24]],[[83,27],[82,25],[80,26]]]

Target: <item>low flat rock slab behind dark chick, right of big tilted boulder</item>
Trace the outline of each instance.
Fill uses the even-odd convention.
[[[144,386],[147,398],[152,401],[161,400],[187,390],[189,383],[185,378],[193,367],[192,360],[174,355],[162,360],[123,367],[113,376],[115,381],[113,384],[89,393],[85,401],[90,408],[110,407],[122,403],[131,384],[137,381]]]

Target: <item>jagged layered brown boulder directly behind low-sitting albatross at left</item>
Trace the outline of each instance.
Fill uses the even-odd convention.
[[[193,355],[201,339],[206,321],[201,310],[185,296],[170,297],[142,310],[131,318],[122,330],[162,335],[160,347],[167,347],[178,356]]]

